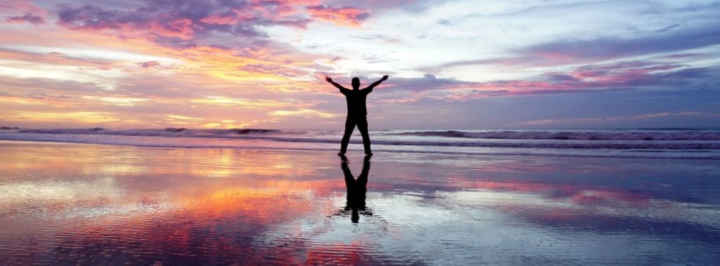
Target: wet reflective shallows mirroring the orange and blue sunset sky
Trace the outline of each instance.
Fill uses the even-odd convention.
[[[0,262],[720,261],[719,160],[355,153],[0,142]]]

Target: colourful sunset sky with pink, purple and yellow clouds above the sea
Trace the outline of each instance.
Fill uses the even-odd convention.
[[[720,126],[720,1],[0,1],[0,126]]]

